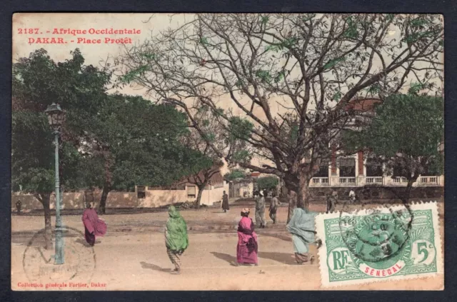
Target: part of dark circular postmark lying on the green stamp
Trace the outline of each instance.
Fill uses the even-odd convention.
[[[408,248],[413,212],[408,204],[365,208],[352,213],[341,211],[341,238],[354,261],[372,268],[388,268],[403,258]]]

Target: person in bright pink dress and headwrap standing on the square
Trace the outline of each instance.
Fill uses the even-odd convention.
[[[243,208],[241,211],[241,220],[238,223],[238,244],[236,246],[236,262],[232,263],[237,266],[250,265],[257,266],[258,259],[257,234],[254,231],[254,223],[249,218],[249,209]]]

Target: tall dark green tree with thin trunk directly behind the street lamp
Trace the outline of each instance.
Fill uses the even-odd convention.
[[[11,181],[14,191],[32,193],[43,204],[46,248],[51,248],[50,197],[54,192],[53,134],[44,110],[52,102],[69,113],[84,106],[86,115],[96,114],[94,106],[103,99],[109,74],[93,66],[84,66],[79,50],[73,58],[56,63],[44,49],[20,58],[13,65]],[[89,101],[90,102],[87,102]],[[86,104],[82,104],[86,101]],[[80,107],[81,106],[81,107]],[[67,114],[66,123],[73,122]],[[69,128],[61,129],[61,186],[81,188],[78,176],[81,154],[73,144]]]

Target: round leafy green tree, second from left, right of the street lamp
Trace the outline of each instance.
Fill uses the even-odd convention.
[[[140,96],[109,96],[91,131],[80,139],[96,167],[103,188],[99,209],[105,213],[112,190],[126,191],[136,184],[168,186],[205,166],[181,144],[188,134],[186,115],[168,104],[155,105]],[[207,166],[207,165],[206,165]]]

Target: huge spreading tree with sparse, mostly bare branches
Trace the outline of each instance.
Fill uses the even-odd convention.
[[[442,53],[437,15],[196,14],[127,49],[119,79],[176,104],[198,130],[196,108],[208,106],[250,146],[211,145],[219,157],[283,178],[298,197],[291,213],[308,207],[308,183],[351,119],[348,101],[411,81],[436,89]]]

